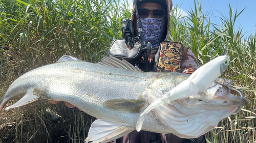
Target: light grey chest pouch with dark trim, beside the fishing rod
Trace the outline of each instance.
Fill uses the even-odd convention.
[[[134,47],[130,50],[125,45],[124,39],[117,39],[111,45],[109,54],[114,56],[117,59],[124,59],[127,62],[137,65],[141,61],[141,44],[139,42],[135,42]]]

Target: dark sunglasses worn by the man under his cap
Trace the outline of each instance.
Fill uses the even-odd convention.
[[[147,9],[139,9],[139,16],[142,18],[147,18],[152,12],[153,18],[161,19],[164,16],[165,10],[147,10]]]

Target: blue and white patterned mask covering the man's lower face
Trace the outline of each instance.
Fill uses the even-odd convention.
[[[159,46],[160,42],[163,41],[165,37],[163,34],[166,30],[165,19],[140,18],[146,44],[147,42],[151,42],[154,48],[155,46]]]

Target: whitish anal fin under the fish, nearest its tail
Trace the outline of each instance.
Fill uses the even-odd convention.
[[[35,94],[36,92],[36,94]],[[11,109],[11,108],[15,108],[15,107],[20,107],[23,105],[27,105],[31,102],[34,102],[38,99],[40,99],[40,96],[38,96],[37,94],[45,94],[44,91],[40,91],[37,88],[34,89],[28,89],[27,93],[22,97],[22,99],[18,100],[15,104],[6,107],[5,109]]]

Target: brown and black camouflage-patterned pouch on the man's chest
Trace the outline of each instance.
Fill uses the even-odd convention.
[[[163,41],[154,59],[154,71],[182,72],[183,45],[178,42]]]

